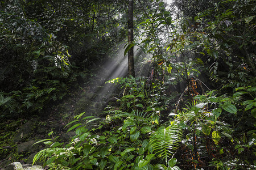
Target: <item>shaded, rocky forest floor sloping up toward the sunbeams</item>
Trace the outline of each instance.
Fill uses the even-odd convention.
[[[69,92],[63,100],[52,103],[52,107],[40,116],[1,120],[0,169],[13,162],[32,164],[35,154],[46,147],[43,142],[33,145],[36,141],[58,138],[57,141],[69,142],[75,131],[66,133],[68,127],[65,125],[82,112],[85,112],[84,116],[104,118],[101,113],[112,102],[109,99],[118,95],[113,91],[117,90],[113,84],[105,84],[109,79],[107,72],[105,68],[96,70],[90,80],[84,80],[85,83]],[[90,128],[95,125],[90,124]]]

